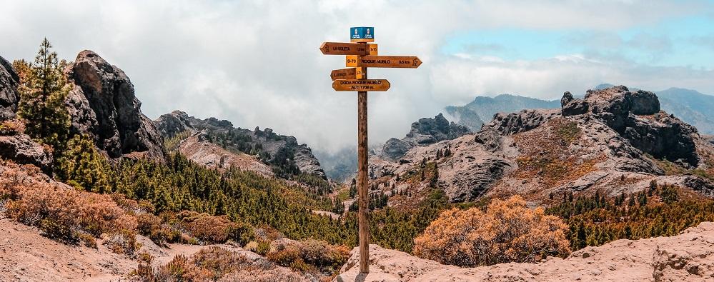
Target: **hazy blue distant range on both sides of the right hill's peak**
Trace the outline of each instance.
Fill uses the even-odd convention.
[[[612,86],[613,84],[599,84],[593,90],[607,89]],[[660,99],[661,108],[668,114],[674,114],[686,123],[696,126],[700,134],[714,134],[714,96],[680,88],[655,91],[655,94]],[[482,124],[490,121],[493,115],[499,112],[512,113],[523,109],[559,108],[559,100],[547,101],[501,94],[495,97],[477,96],[469,104],[447,106],[445,111],[457,124],[466,126],[471,131],[478,131]]]

